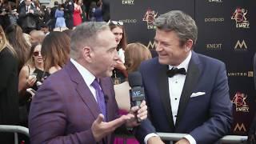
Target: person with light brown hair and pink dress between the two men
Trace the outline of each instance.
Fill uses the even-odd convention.
[[[125,50],[125,65],[128,73],[138,70],[141,62],[152,58],[150,50],[142,43],[130,43],[126,46]],[[122,82],[121,84],[114,85],[115,97],[118,102],[119,114],[127,114],[130,110],[130,86],[129,83]],[[126,134],[128,138],[115,138],[114,144],[127,143],[138,144],[135,138],[129,138],[131,134]],[[126,142],[125,142],[126,141]]]

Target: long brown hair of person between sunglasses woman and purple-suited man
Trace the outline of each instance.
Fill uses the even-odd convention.
[[[54,31],[42,42],[44,70],[49,74],[61,70],[70,58],[70,37],[64,32]]]

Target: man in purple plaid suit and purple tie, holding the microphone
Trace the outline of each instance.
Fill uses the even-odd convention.
[[[106,22],[78,26],[71,36],[70,62],[40,86],[30,106],[31,143],[113,143],[113,131],[146,119],[146,102],[118,116],[110,79],[117,43]]]

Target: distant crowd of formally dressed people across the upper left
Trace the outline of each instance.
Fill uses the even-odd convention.
[[[86,5],[85,5],[85,4]],[[21,0],[18,3],[0,1],[0,24],[6,26],[19,25],[22,31],[30,34],[32,30],[66,30],[73,29],[82,22],[107,22],[109,9],[102,0],[90,1],[66,0],[54,2],[53,7],[46,7],[38,0]]]

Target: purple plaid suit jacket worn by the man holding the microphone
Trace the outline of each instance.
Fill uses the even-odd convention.
[[[106,121],[118,117],[110,78],[101,78],[106,95]],[[31,143],[96,143],[91,131],[100,114],[98,104],[82,75],[68,62],[40,86],[30,106],[29,128]],[[113,143],[113,134],[102,140]],[[101,142],[99,142],[101,143]]]

